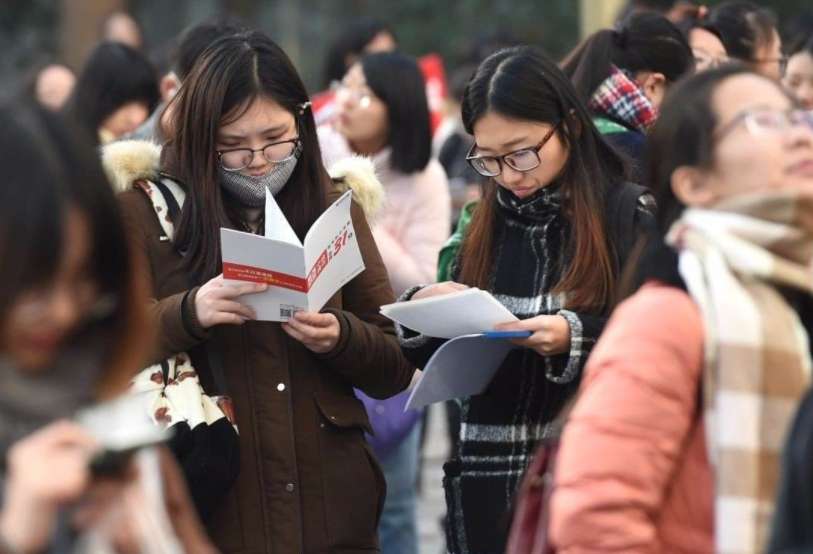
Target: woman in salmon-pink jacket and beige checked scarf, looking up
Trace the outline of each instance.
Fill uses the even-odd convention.
[[[566,554],[763,552],[810,375],[813,120],[727,68],[676,87],[650,141],[661,235],[587,364],[550,538]]]

